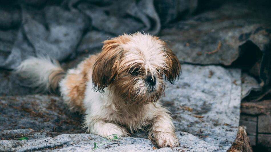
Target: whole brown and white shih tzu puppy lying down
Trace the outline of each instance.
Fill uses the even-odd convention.
[[[179,145],[159,98],[165,81],[179,79],[181,65],[156,36],[137,32],[106,40],[100,54],[67,72],[47,57],[26,59],[16,71],[34,87],[59,89],[71,109],[84,112],[87,132],[121,137],[145,130],[159,147]]]

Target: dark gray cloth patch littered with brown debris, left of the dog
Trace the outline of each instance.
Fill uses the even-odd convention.
[[[61,98],[47,95],[0,97],[0,137],[31,139],[82,133],[81,116],[70,113]]]

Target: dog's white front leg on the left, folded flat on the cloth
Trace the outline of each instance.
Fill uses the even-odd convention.
[[[112,135],[107,137],[108,139],[114,138],[113,134],[116,134],[118,137],[129,135],[129,133],[124,127],[109,122],[104,122],[102,120],[98,120],[95,123],[90,124],[88,130],[90,133],[94,133],[102,137]]]

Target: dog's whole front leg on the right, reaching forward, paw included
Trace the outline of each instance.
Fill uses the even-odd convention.
[[[175,135],[171,116],[162,107],[157,107],[156,112],[149,128],[149,137],[152,137],[159,147],[178,147],[179,141]]]

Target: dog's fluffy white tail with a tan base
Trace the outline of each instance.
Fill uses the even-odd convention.
[[[31,80],[31,87],[38,91],[56,91],[58,82],[66,75],[58,61],[50,57],[30,57],[16,69],[21,77]]]

